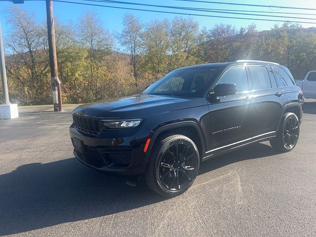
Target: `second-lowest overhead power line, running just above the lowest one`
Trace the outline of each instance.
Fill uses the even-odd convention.
[[[118,4],[141,5],[141,6],[153,6],[153,7],[173,8],[173,9],[181,9],[181,10],[193,10],[193,11],[202,11],[202,12],[214,12],[214,13],[237,14],[237,15],[248,15],[248,16],[268,16],[268,17],[279,17],[279,18],[287,18],[287,19],[292,18],[292,19],[303,19],[303,20],[316,20],[316,18],[306,18],[306,17],[276,16],[276,15],[251,14],[251,13],[240,13],[240,12],[226,12],[226,11],[217,11],[217,10],[210,10],[210,9],[204,10],[204,9],[188,8],[188,7],[181,7],[181,6],[153,5],[153,4],[144,4],[144,3],[126,2],[126,1],[115,1],[115,0],[83,0],[83,1],[108,2],[108,3],[118,3]]]

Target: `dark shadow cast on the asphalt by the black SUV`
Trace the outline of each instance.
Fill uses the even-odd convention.
[[[273,155],[255,144],[202,163],[199,174],[244,159]],[[147,188],[96,172],[76,158],[31,163],[0,175],[0,236],[118,213],[165,200]]]

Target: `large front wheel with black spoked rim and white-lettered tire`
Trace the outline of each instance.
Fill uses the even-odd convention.
[[[159,139],[152,150],[146,170],[146,183],[165,197],[175,197],[187,191],[199,169],[197,146],[184,135]]]

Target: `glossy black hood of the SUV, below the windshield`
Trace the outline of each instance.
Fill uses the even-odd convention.
[[[94,117],[134,117],[197,106],[195,98],[162,95],[133,95],[77,107],[74,112]]]

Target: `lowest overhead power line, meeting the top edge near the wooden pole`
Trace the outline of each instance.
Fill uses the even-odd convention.
[[[126,9],[126,10],[137,10],[137,11],[147,11],[147,12],[170,13],[170,14],[188,15],[188,16],[205,16],[205,17],[216,17],[216,18],[226,18],[226,19],[239,19],[239,20],[256,20],[256,21],[273,21],[273,22],[289,22],[289,23],[308,23],[308,24],[316,24],[316,22],[307,22],[307,21],[284,21],[284,20],[277,20],[277,19],[274,20],[274,19],[262,19],[262,18],[246,18],[246,17],[231,17],[231,16],[214,16],[214,15],[203,15],[203,14],[184,13],[184,12],[171,12],[171,11],[149,10],[149,9],[139,9],[139,8],[131,8],[131,7],[109,6],[109,5],[91,4],[91,3],[76,2],[76,1],[66,1],[66,0],[53,0],[53,1],[56,1],[56,2],[65,2],[65,3],[73,3],[73,4],[81,4],[81,5],[90,5],[90,6],[101,6],[101,7],[109,7],[109,8],[117,8],[117,9]]]

